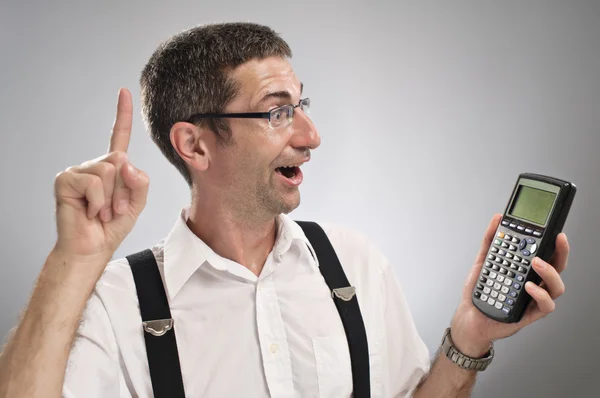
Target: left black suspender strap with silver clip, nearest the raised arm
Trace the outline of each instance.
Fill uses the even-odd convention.
[[[167,294],[151,250],[127,256],[140,303],[155,398],[185,398]]]

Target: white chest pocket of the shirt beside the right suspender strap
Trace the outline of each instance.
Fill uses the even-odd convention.
[[[352,366],[346,335],[313,337],[320,398],[352,395]]]

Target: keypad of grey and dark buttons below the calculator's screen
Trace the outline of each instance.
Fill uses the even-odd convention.
[[[503,220],[502,226],[506,228],[500,228],[492,241],[474,296],[508,315],[524,289],[542,232],[516,221]]]

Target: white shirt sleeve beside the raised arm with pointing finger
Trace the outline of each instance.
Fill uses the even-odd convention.
[[[119,397],[117,343],[106,309],[90,297],[69,355],[63,398]]]

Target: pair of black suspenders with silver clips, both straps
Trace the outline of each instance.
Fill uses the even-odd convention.
[[[369,348],[355,289],[348,282],[325,231],[314,222],[296,222],[315,250],[319,270],[344,325],[352,363],[353,396],[370,397]],[[127,256],[127,260],[140,303],[154,397],[184,398],[173,319],[154,254],[147,249]]]

